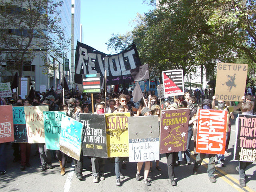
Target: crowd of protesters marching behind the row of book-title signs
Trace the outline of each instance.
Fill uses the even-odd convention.
[[[42,92],[34,92],[32,98],[21,99],[20,97],[14,96],[12,98],[8,98],[4,100],[0,98],[1,105],[12,104],[13,106],[38,106],[44,105],[49,106],[50,111],[62,111],[67,112],[68,116],[74,118],[79,121],[80,113],[116,113],[116,112],[130,112],[131,116],[148,116],[148,115],[158,115],[158,122],[160,126],[160,103],[158,97],[155,95],[155,92],[143,92],[144,98],[140,100],[138,103],[132,102],[132,92],[127,90],[122,90],[121,92],[112,92],[112,94],[108,93],[107,97],[104,98],[102,94],[94,94],[93,98],[91,98],[90,94],[82,94],[78,91],[65,92],[65,98],[63,103],[63,97],[60,94],[49,94]],[[192,92],[192,90],[185,92],[184,95],[178,96],[176,99],[174,98],[164,98],[164,103],[167,109],[177,109],[177,108],[189,108],[190,116],[189,116],[189,126],[188,126],[188,141],[187,141],[187,150],[184,151],[184,161],[187,165],[191,164],[190,160],[190,141],[192,136],[194,136],[194,154],[196,155],[196,161],[194,162],[193,173],[197,174],[198,168],[200,167],[202,160],[206,157],[207,154],[196,153],[195,149],[195,141],[196,141],[196,123],[197,123],[197,114],[199,108],[204,109],[218,109],[218,110],[228,110],[229,118],[232,118],[232,112],[241,108],[243,113],[253,114],[254,111],[254,103],[253,99],[255,97],[255,88],[246,89],[246,101],[245,98],[244,104],[240,102],[238,105],[232,107],[230,106],[230,102],[218,101],[218,106],[215,106],[215,96],[213,95],[212,90],[200,90],[196,89]],[[212,102],[209,100],[213,98]],[[202,100],[202,102],[201,102]],[[106,101],[106,102],[105,102]],[[199,103],[200,106],[198,105]],[[245,104],[246,103],[246,104]],[[247,106],[247,104],[249,104]],[[244,107],[246,106],[246,108]],[[234,116],[233,116],[234,118]],[[229,121],[230,122],[230,121]],[[228,123],[227,128],[227,141],[229,142],[230,138],[230,127],[231,124]],[[228,134],[229,132],[229,134]],[[20,162],[20,170],[25,170],[26,167],[30,166],[30,153],[31,153],[31,144],[29,143],[13,143],[13,162]],[[226,143],[226,150],[228,147],[228,143]],[[47,166],[49,169],[52,169],[52,155],[51,150],[46,149],[45,144],[36,144],[36,153],[34,154],[40,156],[41,169],[40,171],[44,172],[47,170]],[[6,173],[6,143],[0,144],[0,174]],[[215,158],[218,159],[218,163],[220,166],[224,166],[224,155],[216,155],[216,154],[208,154],[209,164],[208,164],[208,177],[210,182],[216,182],[214,178],[215,171]],[[66,162],[70,162],[71,158],[68,157],[63,152],[56,150],[54,154],[54,158],[58,159],[60,162],[60,175],[65,175],[65,166]],[[104,166],[105,159],[98,157],[89,157],[91,159],[90,168],[92,169],[93,182],[98,183],[99,180],[104,180]],[[176,181],[174,180],[174,167],[179,166],[180,162],[182,162],[182,152],[172,152],[166,154],[167,158],[167,170],[170,179],[171,185],[175,186]],[[82,168],[83,168],[83,155],[82,152],[80,154],[80,160],[73,160],[75,165],[75,173],[76,177],[79,180],[82,180]],[[127,161],[126,158],[116,157],[113,159],[114,169],[116,173],[116,185],[120,186],[120,179],[124,178],[124,175],[121,172],[121,168],[125,169]],[[140,173],[142,169],[142,164],[144,162],[137,163],[137,172],[134,174],[136,180],[140,180]],[[122,166],[121,166],[122,164]],[[244,163],[240,162],[239,166],[236,168],[240,174],[240,185],[246,186],[245,184],[245,168],[248,166],[250,162]],[[158,171],[162,171],[162,168],[159,166],[159,161],[156,162],[156,169]],[[166,169],[165,169],[166,170]],[[150,181],[148,180],[148,174],[152,171],[152,162],[145,162],[144,167],[144,183],[146,185],[150,185]]]

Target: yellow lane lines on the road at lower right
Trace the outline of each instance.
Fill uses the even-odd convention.
[[[191,152],[191,154],[194,155],[194,152]],[[195,156],[191,156],[194,160],[196,160]],[[202,166],[208,168],[208,160],[206,160],[206,158],[204,158],[203,162],[205,164],[202,164]],[[237,179],[235,179],[234,177],[230,176],[229,174],[227,174],[226,172],[224,172],[223,170],[221,170],[220,168],[216,167],[216,170],[218,171],[217,176],[219,178],[221,178],[222,180],[224,180],[226,183],[230,184],[232,187],[234,187],[236,190],[240,191],[240,192],[254,192],[254,190],[250,189],[248,186],[246,187],[241,187],[239,185],[239,181]]]

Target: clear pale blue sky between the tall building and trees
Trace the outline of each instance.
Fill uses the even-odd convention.
[[[105,43],[112,34],[125,34],[133,27],[129,22],[137,13],[149,12],[154,7],[143,0],[81,0],[83,42],[105,54],[110,54]],[[115,54],[111,52],[111,54]]]

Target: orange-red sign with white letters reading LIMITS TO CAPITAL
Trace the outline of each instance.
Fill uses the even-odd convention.
[[[200,109],[198,113],[196,152],[224,154],[227,111]]]

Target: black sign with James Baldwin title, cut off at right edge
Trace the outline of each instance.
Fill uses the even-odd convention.
[[[238,121],[238,122],[237,122]],[[256,116],[238,114],[234,160],[256,161]]]

